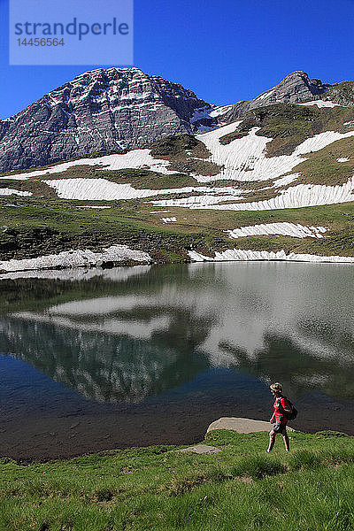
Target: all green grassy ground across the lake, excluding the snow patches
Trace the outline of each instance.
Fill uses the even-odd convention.
[[[318,109],[316,106],[271,105],[250,112],[235,134],[224,136],[221,142],[231,142],[235,135],[246,134],[250,127],[257,125],[260,127],[258,135],[273,138],[267,143],[268,156],[291,152],[296,143],[320,131],[331,128],[342,132],[349,130],[353,127],[350,124],[354,124],[354,120],[350,121],[350,118],[354,119],[353,113],[353,107]],[[296,181],[282,189],[272,188],[272,180],[242,183],[215,181],[214,184],[252,190],[245,192],[243,199],[232,203],[269,199],[298,184],[342,185],[354,174],[353,148],[354,139],[349,137],[309,153],[304,162],[291,172],[299,173]],[[116,183],[130,183],[135,189],[178,189],[201,184],[193,177],[194,172],[212,175],[220,169],[207,160],[209,151],[191,135],[166,137],[153,142],[150,149],[156,157],[168,160],[176,173],[163,175],[144,168],[109,171],[99,165],[75,165],[65,172],[51,173],[44,178],[104,178]],[[338,158],[348,160],[338,162]],[[35,258],[71,249],[101,250],[117,243],[146,250],[157,262],[188,260],[190,249],[213,256],[215,250],[234,247],[354,256],[353,203],[259,212],[190,210],[176,206],[159,208],[151,203],[154,199],[176,199],[197,195],[198,192],[111,202],[61,200],[55,189],[42,182],[42,178],[16,181],[9,175],[0,181],[0,188],[33,194],[26,198],[0,196],[0,260]],[[88,204],[110,205],[112,208],[100,211],[78,208]],[[177,221],[165,224],[163,217],[175,217]],[[225,233],[237,227],[280,221],[307,227],[325,226],[329,228],[328,237],[314,240],[264,235],[232,240]]]

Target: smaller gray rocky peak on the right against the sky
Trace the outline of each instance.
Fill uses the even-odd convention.
[[[232,105],[226,113],[219,117],[219,121],[234,121],[240,118],[244,112],[258,107],[265,107],[266,105],[298,104],[316,99],[317,96],[326,92],[331,86],[322,83],[320,80],[310,79],[307,73],[302,71],[289,73],[273,89],[263,92],[263,94],[250,101],[241,101]]]

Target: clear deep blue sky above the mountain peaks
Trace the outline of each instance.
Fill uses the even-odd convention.
[[[101,66],[10,66],[8,2],[0,0],[1,119]],[[135,66],[210,103],[257,96],[294,70],[353,80],[353,49],[354,0],[135,0]]]

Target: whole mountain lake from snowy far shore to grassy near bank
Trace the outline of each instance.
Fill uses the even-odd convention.
[[[354,435],[353,266],[281,262],[0,280],[0,453],[195,443],[219,417]],[[266,445],[266,440],[265,440]]]

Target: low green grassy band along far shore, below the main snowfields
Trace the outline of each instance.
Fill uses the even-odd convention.
[[[13,203],[15,201],[15,203]],[[148,202],[112,202],[112,208],[95,211],[79,209],[73,202],[39,198],[12,199],[0,213],[0,257],[35,258],[70,249],[101,250],[104,246],[127,244],[149,252],[157,262],[188,259],[187,251],[198,250],[213,256],[215,250],[230,248],[287,250],[320,255],[354,255],[353,204],[260,212],[190,211],[169,207],[168,213]],[[104,202],[107,204],[107,202]],[[165,224],[163,216],[175,216],[177,222]],[[292,238],[289,236],[249,236],[233,240],[225,231],[258,223],[289,221],[306,226],[325,226],[328,237]]]

